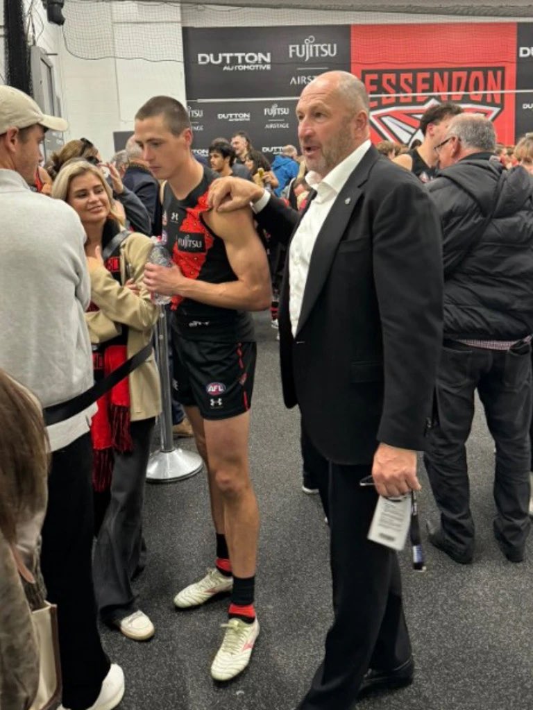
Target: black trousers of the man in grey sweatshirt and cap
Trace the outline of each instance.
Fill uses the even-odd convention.
[[[109,672],[101,647],[92,584],[92,444],[89,433],[53,453],[41,569],[48,600],[57,604],[62,704],[94,704]]]

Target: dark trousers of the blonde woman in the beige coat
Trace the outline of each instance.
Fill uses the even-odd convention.
[[[144,488],[154,422],[131,422],[133,451],[114,454],[111,501],[94,547],[94,590],[108,623],[136,611],[131,580],[144,564]]]

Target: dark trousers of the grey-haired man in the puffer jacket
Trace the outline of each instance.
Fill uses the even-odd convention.
[[[530,528],[532,382],[528,345],[497,351],[446,342],[443,348],[436,387],[440,422],[429,432],[424,457],[441,527],[458,550],[473,550],[465,444],[476,388],[496,444],[494,524],[507,547],[523,549]]]

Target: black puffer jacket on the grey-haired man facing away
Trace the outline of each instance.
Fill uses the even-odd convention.
[[[444,335],[513,340],[533,332],[533,182],[488,153],[427,185],[444,229]]]

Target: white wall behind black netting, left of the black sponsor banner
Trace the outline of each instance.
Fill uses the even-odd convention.
[[[80,22],[92,31],[100,48],[105,38],[109,43],[105,53],[111,57],[79,59],[73,54],[76,47],[70,46],[74,43],[69,43],[69,34],[65,33],[66,43],[62,38],[63,107],[70,124],[66,138],[89,138],[104,158],[110,158],[114,153],[114,131],[133,129],[136,111],[147,99],[167,94],[185,101],[180,5],[158,5],[154,9],[136,2],[83,6],[72,3],[69,18],[67,3],[65,17],[67,22]],[[167,56],[173,61],[133,59],[142,55],[143,43],[154,41],[154,37],[168,47]]]

